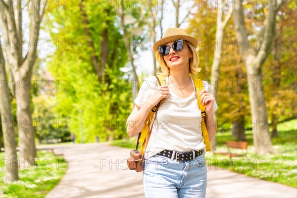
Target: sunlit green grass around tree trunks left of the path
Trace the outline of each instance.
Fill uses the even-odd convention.
[[[0,159],[1,198],[44,198],[57,185],[68,169],[68,163],[62,157],[40,150],[38,151],[36,165],[24,167],[24,163],[18,162],[19,166],[23,167],[23,170],[19,170],[19,180],[4,184],[4,153],[0,153]]]

